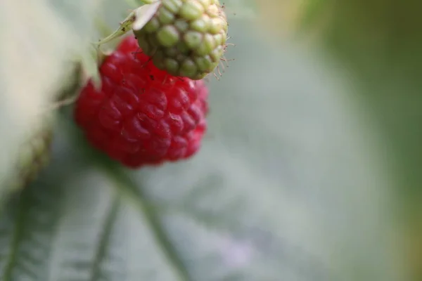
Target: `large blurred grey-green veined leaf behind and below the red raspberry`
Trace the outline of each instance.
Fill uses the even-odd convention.
[[[1,216],[2,280],[399,280],[356,100],[251,28],[231,22],[236,61],[191,161],[125,171],[58,124],[49,170]]]

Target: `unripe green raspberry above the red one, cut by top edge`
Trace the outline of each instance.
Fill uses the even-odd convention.
[[[156,67],[197,80],[219,65],[227,29],[218,0],[162,0],[153,18],[134,34]]]

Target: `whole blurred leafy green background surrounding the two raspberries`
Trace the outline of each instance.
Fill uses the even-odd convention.
[[[56,121],[51,163],[3,201],[1,280],[421,280],[422,4],[224,2],[235,60],[209,81],[202,150],[139,171],[49,107],[96,18],[114,29],[131,6],[0,4],[4,192]]]

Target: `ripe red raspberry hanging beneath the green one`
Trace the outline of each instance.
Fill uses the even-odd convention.
[[[158,70],[134,37],[122,40],[75,106],[89,142],[125,166],[137,168],[194,155],[207,128],[208,90],[202,80]]]

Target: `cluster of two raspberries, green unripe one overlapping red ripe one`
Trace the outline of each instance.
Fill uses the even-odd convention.
[[[75,120],[89,142],[132,168],[194,155],[207,127],[202,79],[225,60],[227,30],[218,0],[160,0],[103,60],[101,89],[80,93]]]

